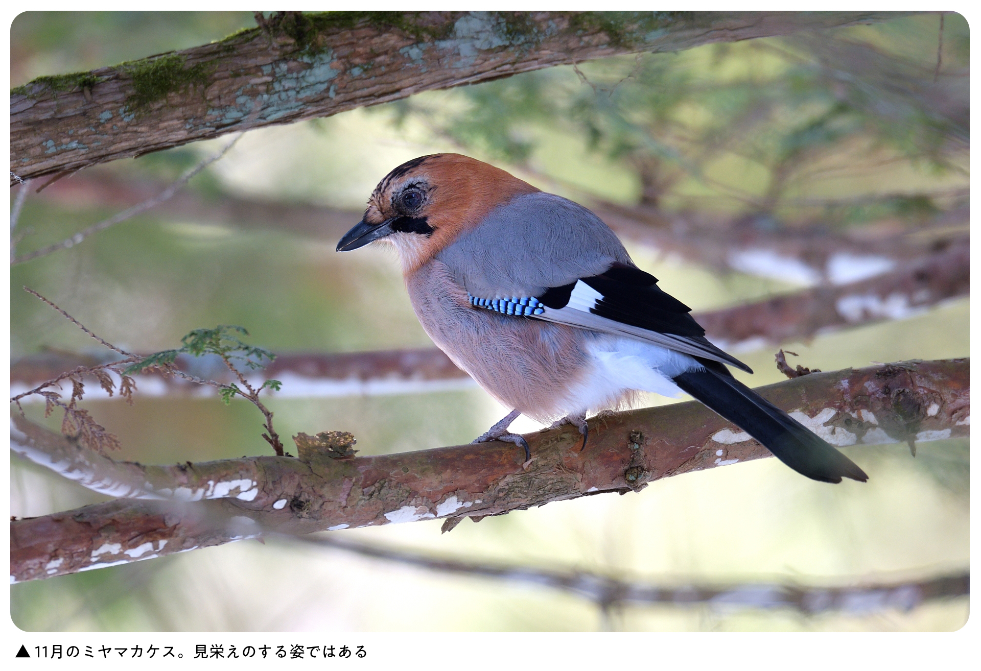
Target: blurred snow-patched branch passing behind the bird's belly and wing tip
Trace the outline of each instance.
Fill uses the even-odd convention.
[[[890,319],[904,319],[944,300],[968,295],[970,255],[966,245],[952,245],[899,270],[843,286],[817,286],[796,293],[695,315],[707,335],[723,349],[745,351],[765,344],[806,340],[829,331],[854,328]],[[21,393],[65,371],[106,364],[110,358],[70,352],[42,352],[11,366],[11,390]],[[184,373],[232,382],[228,370],[209,357],[181,357]],[[144,376],[137,393],[199,396],[204,389],[179,377]],[[436,347],[351,353],[307,352],[280,354],[256,381],[279,380],[285,396],[343,396],[401,393],[465,385],[469,377]],[[217,391],[215,392],[217,393]],[[95,395],[93,395],[95,394]],[[98,397],[98,389],[89,398]],[[107,396],[108,397],[108,396]],[[25,398],[26,402],[39,398]]]

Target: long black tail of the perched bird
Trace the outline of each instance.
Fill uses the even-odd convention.
[[[700,358],[698,361],[705,369],[682,373],[674,378],[675,384],[759,440],[773,456],[813,480],[868,480],[851,459],[733,378],[722,364]]]

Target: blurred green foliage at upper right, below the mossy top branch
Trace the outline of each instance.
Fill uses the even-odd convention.
[[[877,177],[898,164],[961,178],[955,199],[966,198],[967,24],[946,15],[934,81],[938,22],[928,15],[610,58],[375,109],[465,151],[533,167],[549,135],[581,138],[588,154],[634,176],[642,203],[669,210],[721,208],[763,226],[886,216],[915,224],[952,204],[950,188],[921,191],[906,180],[883,192]],[[734,164],[743,168],[727,169]],[[840,186],[842,171],[875,187],[822,188]]]

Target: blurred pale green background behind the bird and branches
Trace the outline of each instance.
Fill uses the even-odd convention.
[[[252,130],[173,201],[13,266],[12,360],[101,355],[25,285],[130,351],[179,346],[191,330],[218,324],[243,326],[250,343],[281,354],[432,346],[393,255],[334,249],[391,168],[440,151],[490,161],[620,222],[614,228],[637,263],[697,313],[867,280],[963,245],[968,28],[957,14],[943,20],[943,30],[941,16],[929,14],[617,57]],[[26,12],[11,28],[12,83],[251,26],[249,12]],[[34,182],[14,230],[17,253],[149,197],[227,141],[100,165],[40,193],[33,189],[43,179]],[[821,256],[829,244],[834,263]],[[968,355],[966,295],[857,321],[805,341],[728,344],[756,371],[743,377],[752,386],[783,379],[778,346],[800,354],[792,365],[825,371]],[[284,438],[349,431],[361,454],[469,442],[507,411],[458,377],[386,381],[339,381],[316,393],[284,386],[267,404]],[[673,400],[645,398],[664,402]],[[243,401],[164,394],[137,396],[132,407],[116,399],[83,407],[122,440],[117,458],[271,453],[262,416]],[[60,425],[37,403],[25,409]],[[525,418],[514,425],[538,427]],[[868,484],[831,487],[765,459],[640,493],[464,521],[449,534],[437,520],[330,536],[404,556],[665,587],[916,583],[965,573],[967,440],[920,443],[915,458],[905,444],[845,451]],[[11,474],[12,515],[104,500],[17,456]],[[269,539],[15,585],[11,615],[29,631],[953,631],[966,621],[967,598],[820,614],[601,605]]]

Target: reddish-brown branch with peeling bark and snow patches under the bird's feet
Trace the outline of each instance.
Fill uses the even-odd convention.
[[[966,359],[816,373],[758,391],[839,446],[969,431]],[[13,521],[11,575],[26,581],[74,573],[264,530],[306,534],[500,515],[604,491],[637,491],[661,478],[770,456],[694,401],[615,413],[590,425],[582,451],[572,427],[526,436],[534,455],[527,464],[519,448],[494,442],[343,459],[307,450],[299,458],[158,467],[114,462],[15,414],[14,451],[94,490],[139,499]],[[453,520],[447,524],[451,528]]]

